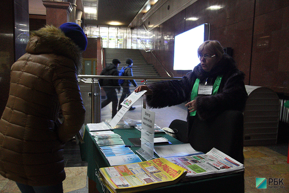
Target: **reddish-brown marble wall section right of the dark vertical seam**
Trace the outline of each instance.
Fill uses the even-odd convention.
[[[289,93],[289,1],[256,0],[252,85]]]

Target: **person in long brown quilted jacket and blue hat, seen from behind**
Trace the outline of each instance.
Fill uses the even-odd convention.
[[[77,73],[86,46],[79,25],[46,26],[30,34],[27,53],[12,65],[9,98],[0,120],[0,174],[20,189],[19,184],[56,185],[63,191],[64,143],[84,124]]]

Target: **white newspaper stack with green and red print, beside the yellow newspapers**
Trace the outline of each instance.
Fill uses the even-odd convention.
[[[244,165],[242,163],[227,156],[216,148],[213,148],[207,154],[169,157],[166,159],[187,170],[188,173],[182,181],[193,181],[216,175],[244,171]]]

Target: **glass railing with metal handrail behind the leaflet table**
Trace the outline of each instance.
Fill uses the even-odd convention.
[[[163,80],[180,80],[180,77],[170,77],[170,78],[161,78],[161,77],[128,77],[128,76],[92,76],[92,75],[79,75],[79,87],[81,91],[81,95],[84,101],[84,106],[86,108],[86,120],[87,123],[98,123],[98,122],[107,122],[109,123],[112,120],[113,113],[119,109],[119,100],[121,99],[121,95],[123,93],[123,87],[121,87],[120,92],[118,93],[118,89],[114,87],[100,87],[98,79],[135,79],[142,80],[144,84],[150,84],[152,80],[155,81],[163,81]],[[135,87],[131,84],[129,88],[132,93]],[[114,91],[115,92],[114,92]],[[108,94],[106,93],[109,92]],[[117,102],[112,103],[110,98],[112,95],[117,95]],[[127,95],[125,96],[127,98]],[[160,100],[162,100],[160,98]],[[187,108],[184,104],[179,104],[176,106],[165,107],[162,109],[150,109],[145,105],[145,97],[142,96],[139,98],[132,106],[134,109],[128,110],[123,118],[116,125],[117,127],[128,127],[125,122],[129,120],[141,120],[141,112],[142,108],[149,109],[150,111],[155,112],[155,124],[159,127],[168,127],[169,124],[175,120],[186,120],[187,116]],[[114,107],[113,107],[114,106]]]

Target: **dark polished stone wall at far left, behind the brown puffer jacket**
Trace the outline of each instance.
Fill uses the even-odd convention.
[[[29,40],[28,1],[0,1],[0,116],[9,94],[10,68],[25,53]]]

